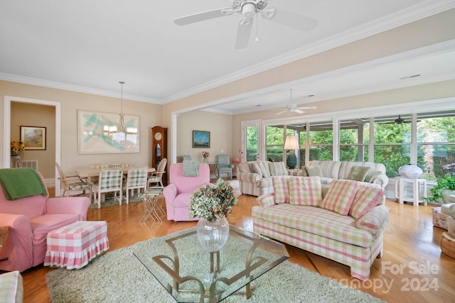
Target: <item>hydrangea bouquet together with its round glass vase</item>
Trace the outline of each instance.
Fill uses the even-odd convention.
[[[228,241],[229,223],[225,217],[230,216],[236,204],[234,189],[221,178],[215,185],[203,185],[191,194],[190,219],[199,217],[196,234],[208,252],[217,252]]]

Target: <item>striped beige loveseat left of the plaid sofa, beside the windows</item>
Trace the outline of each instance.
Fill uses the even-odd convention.
[[[261,196],[273,192],[272,176],[287,175],[284,162],[250,161],[237,165],[242,194]]]

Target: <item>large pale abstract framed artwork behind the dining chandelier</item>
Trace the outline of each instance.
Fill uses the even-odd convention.
[[[139,116],[124,115],[126,133],[119,131],[119,114],[77,111],[77,153],[139,153]]]

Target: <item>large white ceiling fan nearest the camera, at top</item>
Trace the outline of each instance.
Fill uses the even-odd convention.
[[[275,21],[300,31],[310,31],[319,22],[313,18],[304,17],[290,11],[267,7],[267,1],[269,0],[230,0],[230,7],[194,13],[189,16],[175,18],[173,22],[179,26],[185,26],[199,21],[240,13],[242,18],[239,21],[235,40],[235,48],[237,49],[247,47],[254,17],[257,13],[260,13],[262,18],[266,20]]]

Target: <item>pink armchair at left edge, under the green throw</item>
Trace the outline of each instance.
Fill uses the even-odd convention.
[[[48,232],[75,221],[85,221],[88,206],[88,197],[46,198],[38,194],[8,200],[0,186],[0,224],[10,226],[0,250],[1,257],[8,259],[0,261],[0,270],[23,272],[43,263]]]

